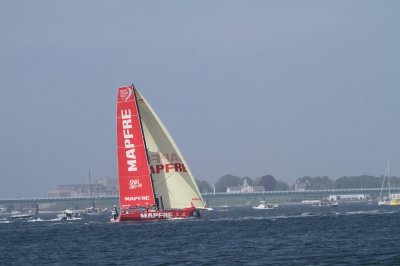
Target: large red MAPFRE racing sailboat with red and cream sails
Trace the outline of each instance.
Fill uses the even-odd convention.
[[[111,222],[200,217],[205,206],[193,175],[133,85],[118,88],[117,144],[120,211]]]

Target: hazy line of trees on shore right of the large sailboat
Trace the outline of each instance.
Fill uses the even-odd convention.
[[[385,183],[384,183],[385,179]],[[272,175],[265,175],[258,178],[239,177],[234,175],[224,175],[220,177],[217,182],[211,186],[207,181],[197,181],[200,192],[207,193],[213,192],[226,192],[228,187],[242,186],[246,180],[250,186],[263,186],[265,191],[286,191],[286,190],[315,190],[315,189],[355,189],[355,188],[379,188],[384,184],[388,187],[388,180],[390,179],[391,187],[400,187],[400,177],[391,176],[390,178],[384,176],[343,176],[333,180],[327,176],[303,176],[298,178],[293,185],[276,180]]]

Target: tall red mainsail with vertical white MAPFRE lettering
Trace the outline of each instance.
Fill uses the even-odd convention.
[[[123,208],[154,205],[149,162],[133,86],[118,88],[119,198]]]

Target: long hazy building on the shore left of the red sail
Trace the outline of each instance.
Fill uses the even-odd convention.
[[[90,197],[90,196],[119,196],[117,179],[102,178],[89,184],[59,185],[55,190],[47,192],[49,198],[59,197]]]

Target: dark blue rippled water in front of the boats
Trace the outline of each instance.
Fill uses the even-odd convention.
[[[0,264],[400,265],[400,207],[211,211],[200,220],[0,220]]]

